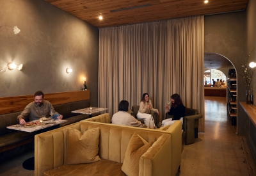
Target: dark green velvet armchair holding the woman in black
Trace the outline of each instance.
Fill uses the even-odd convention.
[[[195,143],[195,138],[197,138],[199,118],[202,118],[202,114],[198,114],[196,109],[186,108],[186,113],[183,118],[183,127],[185,135],[185,144],[189,145]],[[163,120],[167,118],[172,118],[171,115],[166,113]]]

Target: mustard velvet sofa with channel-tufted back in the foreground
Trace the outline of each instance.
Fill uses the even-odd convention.
[[[99,157],[102,161],[90,164],[64,164],[65,148],[67,147],[67,129],[70,127],[82,133],[88,129],[99,127]],[[121,170],[125,151],[134,132],[148,142],[155,142],[152,145],[152,150],[148,149],[141,156],[138,175],[174,176],[179,170],[181,161],[182,142],[180,131],[181,122],[179,120],[166,131],[83,120],[83,122],[77,122],[76,124],[37,134],[35,136],[35,176],[86,176],[95,175],[95,172],[97,172],[97,175],[117,175],[115,170],[111,169],[111,166],[114,163]],[[157,141],[163,134],[168,135],[167,138],[161,138],[161,140]],[[102,163],[103,161],[104,163]],[[123,175],[125,175],[124,172]]]

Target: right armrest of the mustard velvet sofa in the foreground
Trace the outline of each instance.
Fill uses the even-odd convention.
[[[170,175],[172,173],[172,136],[163,134],[140,158],[140,176]],[[181,155],[181,154],[180,154]],[[178,159],[179,160],[179,159]],[[164,161],[164,162],[163,162]]]

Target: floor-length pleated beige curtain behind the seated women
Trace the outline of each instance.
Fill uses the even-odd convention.
[[[99,29],[99,107],[139,105],[147,92],[159,118],[173,93],[204,115],[204,17]],[[204,131],[204,119],[199,131]]]

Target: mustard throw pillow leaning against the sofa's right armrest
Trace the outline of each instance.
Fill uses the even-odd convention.
[[[132,135],[124,156],[122,171],[129,176],[139,175],[140,157],[147,152],[154,142],[148,143],[139,134]]]

